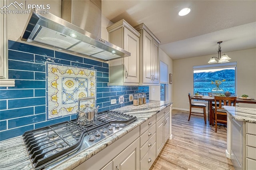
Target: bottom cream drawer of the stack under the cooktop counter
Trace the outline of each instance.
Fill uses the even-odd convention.
[[[152,148],[148,151],[145,157],[140,161],[140,170],[149,170],[154,160],[156,159],[156,142],[152,145]]]

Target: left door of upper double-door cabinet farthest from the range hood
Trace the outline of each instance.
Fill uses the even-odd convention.
[[[152,46],[153,38],[143,30],[142,83],[152,83]]]

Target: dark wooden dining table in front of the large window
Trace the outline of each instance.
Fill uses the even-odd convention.
[[[212,119],[210,119],[212,117],[212,102],[214,102],[214,97],[210,97],[210,96],[191,96],[191,99],[194,100],[202,100],[202,101],[208,101],[208,119],[209,119],[209,123],[210,125],[212,125]],[[256,100],[255,99],[241,99],[241,98],[237,98],[236,99],[236,103],[250,103],[250,104],[256,104]]]

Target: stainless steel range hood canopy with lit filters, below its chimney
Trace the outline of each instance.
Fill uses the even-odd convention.
[[[40,11],[38,11],[40,12]],[[130,52],[53,14],[31,12],[21,40],[108,61]]]

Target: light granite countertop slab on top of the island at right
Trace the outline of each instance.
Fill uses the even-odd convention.
[[[236,121],[256,123],[256,108],[222,106]]]

